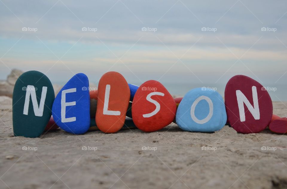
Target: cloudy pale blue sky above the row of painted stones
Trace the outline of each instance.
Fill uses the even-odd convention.
[[[77,73],[97,83],[117,71],[138,85],[154,79],[224,88],[243,74],[287,93],[286,5],[0,0],[0,79],[18,68],[41,71],[52,83]]]

